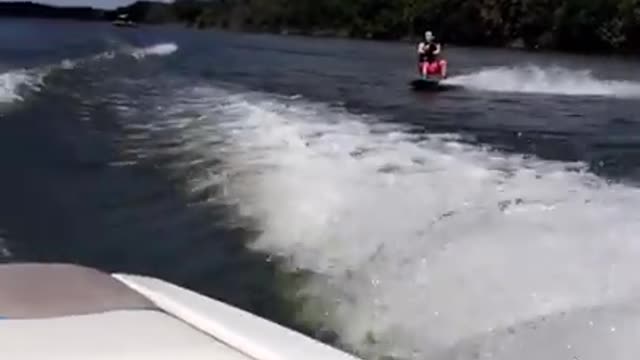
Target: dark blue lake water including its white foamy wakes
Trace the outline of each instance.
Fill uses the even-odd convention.
[[[414,93],[408,44],[3,19],[0,258],[157,276],[369,358],[473,358],[545,316],[523,348],[637,354],[554,318],[640,289],[637,62],[446,56],[451,89]]]

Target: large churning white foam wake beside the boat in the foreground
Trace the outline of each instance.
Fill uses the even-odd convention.
[[[252,221],[254,249],[311,272],[311,311],[372,359],[513,360],[494,331],[640,295],[640,191],[581,164],[213,88],[185,91],[163,116],[140,131],[172,139],[163,151],[179,155],[192,191]],[[595,321],[585,314],[571,324]],[[608,332],[620,321],[602,315],[595,326]],[[540,326],[558,343],[530,342],[534,352],[520,358],[630,349],[640,336],[627,327],[604,341],[571,326]],[[495,348],[477,357],[468,343],[483,337]]]

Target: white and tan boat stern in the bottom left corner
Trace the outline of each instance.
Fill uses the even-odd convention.
[[[357,360],[159,279],[66,264],[0,265],[0,354],[12,360]]]

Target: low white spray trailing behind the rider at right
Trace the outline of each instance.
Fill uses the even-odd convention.
[[[559,95],[640,97],[640,83],[601,80],[590,71],[538,66],[498,67],[447,80],[471,89]]]

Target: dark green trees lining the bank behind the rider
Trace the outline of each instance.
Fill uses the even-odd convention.
[[[176,0],[192,26],[571,51],[640,49],[640,0]]]

